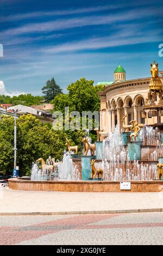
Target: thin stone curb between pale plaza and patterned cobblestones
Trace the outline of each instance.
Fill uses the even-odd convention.
[[[58,212],[0,212],[0,216],[21,216],[21,215],[72,215],[72,214],[130,214],[139,212],[162,212],[163,208],[155,209],[130,209],[130,210],[109,210],[109,211],[58,211]]]

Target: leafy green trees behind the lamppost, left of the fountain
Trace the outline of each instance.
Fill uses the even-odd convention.
[[[72,145],[79,145],[83,131],[54,131],[52,126],[42,124],[33,115],[22,115],[17,119],[17,164],[21,175],[30,175],[32,162],[49,155],[62,159],[66,137]],[[14,118],[2,116],[0,120],[0,173],[11,174],[14,167]]]

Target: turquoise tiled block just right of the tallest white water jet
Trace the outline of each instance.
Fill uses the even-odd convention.
[[[129,160],[141,160],[142,142],[128,142]]]

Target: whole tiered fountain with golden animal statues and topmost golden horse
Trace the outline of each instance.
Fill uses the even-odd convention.
[[[45,163],[40,158],[36,162],[41,162],[41,169],[33,163],[30,180],[11,179],[9,187],[16,190],[121,192],[120,183],[127,181],[131,192],[159,192],[163,177],[163,124],[160,123],[163,90],[158,64],[154,62],[151,66],[152,78],[143,109],[148,114],[157,113],[158,124],[143,125],[131,120],[126,125],[127,115],[124,115],[122,133],[118,127],[113,133],[94,129],[96,144],[91,144],[89,130],[86,130],[82,156],[78,154],[78,146],[71,146],[66,138],[68,153],[64,153],[62,162],[48,159]]]

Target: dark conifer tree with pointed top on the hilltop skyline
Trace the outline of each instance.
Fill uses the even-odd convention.
[[[42,93],[45,95],[47,102],[50,102],[56,95],[62,93],[62,89],[55,82],[54,77],[46,82],[46,86],[42,88]]]

